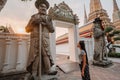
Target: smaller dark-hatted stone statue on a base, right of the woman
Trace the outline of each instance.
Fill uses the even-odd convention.
[[[98,66],[106,66],[111,63],[106,59],[107,48],[105,40],[105,31],[102,26],[102,20],[96,18],[93,22],[93,37],[94,37],[94,55],[93,64]]]

